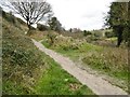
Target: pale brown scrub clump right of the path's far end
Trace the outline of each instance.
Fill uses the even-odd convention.
[[[48,34],[47,38],[48,40],[42,42],[47,47],[51,47],[51,48],[60,47],[64,51],[79,50],[80,47],[80,43],[77,43],[70,37],[63,37],[62,34],[57,36],[57,34],[50,33]]]

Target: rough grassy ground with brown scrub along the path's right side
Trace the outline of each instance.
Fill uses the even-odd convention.
[[[98,70],[99,73],[112,77],[107,79],[110,83],[128,91],[127,48],[99,46],[87,43],[83,40],[82,43],[78,43],[76,40],[72,41],[72,39],[70,41],[69,39],[68,41],[56,39],[56,41],[58,42],[55,42],[50,48],[70,57],[74,61],[78,59],[82,60],[84,66],[90,66],[92,69]],[[42,43],[46,46],[49,45],[48,41],[43,41]]]

